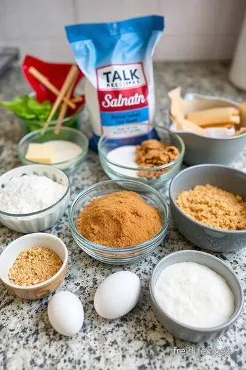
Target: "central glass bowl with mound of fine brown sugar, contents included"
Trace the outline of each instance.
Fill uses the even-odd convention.
[[[169,207],[151,186],[108,180],[83,190],[68,219],[75,242],[87,254],[109,264],[128,264],[146,258],[161,244]]]

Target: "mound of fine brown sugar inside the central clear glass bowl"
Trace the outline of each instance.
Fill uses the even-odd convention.
[[[161,215],[137,193],[120,191],[92,199],[80,213],[79,233],[107,247],[131,247],[161,230]]]

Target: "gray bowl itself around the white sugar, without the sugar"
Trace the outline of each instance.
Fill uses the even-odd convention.
[[[213,328],[195,328],[190,325],[184,325],[183,323],[180,323],[180,321],[173,319],[159,306],[154,291],[156,280],[165,267],[179,262],[196,262],[204,264],[204,266],[209,267],[209,269],[215,271],[226,280],[235,298],[234,314],[229,321]],[[217,257],[200,251],[178,251],[164,257],[158,264],[156,264],[156,267],[154,267],[150,277],[150,300],[156,318],[169,332],[177,338],[197,343],[211,341],[212,339],[224,334],[240,316],[243,310],[244,298],[243,288],[238,277],[225,262],[219,260]]]

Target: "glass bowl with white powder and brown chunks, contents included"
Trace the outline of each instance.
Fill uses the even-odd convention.
[[[111,180],[160,188],[180,171],[184,142],[164,127],[131,123],[107,130],[98,141],[98,155]]]

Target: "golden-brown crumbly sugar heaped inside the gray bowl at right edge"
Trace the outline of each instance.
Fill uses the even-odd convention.
[[[246,203],[242,197],[217,186],[197,185],[181,193],[176,204],[195,221],[215,229],[246,229]]]

